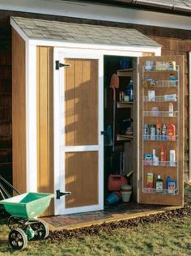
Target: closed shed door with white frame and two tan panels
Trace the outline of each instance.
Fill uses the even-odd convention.
[[[78,54],[79,55],[79,54]],[[66,57],[67,56],[67,57]],[[70,58],[60,73],[59,190],[71,195],[59,200],[59,214],[103,208],[103,88],[100,59]]]

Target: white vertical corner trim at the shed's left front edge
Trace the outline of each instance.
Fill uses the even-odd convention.
[[[27,191],[37,191],[36,46],[26,42]],[[36,139],[34,139],[36,138]]]

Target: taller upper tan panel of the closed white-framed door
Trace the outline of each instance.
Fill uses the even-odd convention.
[[[69,59],[65,71],[66,146],[98,143],[98,61]]]

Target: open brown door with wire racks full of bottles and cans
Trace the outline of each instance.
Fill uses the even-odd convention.
[[[140,58],[139,203],[184,203],[184,56]]]

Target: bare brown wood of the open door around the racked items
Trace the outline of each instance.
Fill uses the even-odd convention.
[[[155,71],[142,72],[142,66],[145,66],[146,61],[152,62],[176,62],[179,66],[180,72],[177,72],[177,79],[179,74],[180,83],[176,87],[159,86],[143,88],[142,78],[155,78],[156,80],[164,81],[164,84],[168,84],[168,78],[173,71]],[[139,78],[140,78],[140,105],[139,105],[139,203],[150,203],[150,204],[163,204],[163,205],[183,205],[184,203],[184,141],[185,141],[185,129],[184,129],[184,56],[161,56],[161,57],[143,57],[140,58],[139,63]],[[165,82],[166,81],[166,82]],[[176,93],[177,101],[155,100],[154,102],[143,102],[143,96],[148,96],[148,91],[154,90],[155,96],[171,95]],[[153,107],[158,107],[160,111],[168,112],[168,104],[172,102],[174,111],[177,111],[177,117],[143,117],[144,111],[151,111]],[[143,140],[143,125],[144,124],[169,124],[173,123],[176,126],[176,142],[162,141],[162,140]],[[160,157],[160,148],[164,145],[167,152],[167,161],[169,163],[169,151],[176,151],[176,167],[168,166],[144,166],[144,154],[152,153],[155,149],[156,156]],[[160,159],[159,159],[160,160]],[[146,189],[146,175],[147,173],[154,174],[154,190]],[[158,194],[155,191],[155,180],[160,175],[163,179],[163,194]],[[173,180],[176,180],[177,194],[168,194],[166,190],[166,178],[170,176]],[[165,191],[166,190],[166,191]],[[151,192],[152,191],[152,192]]]

